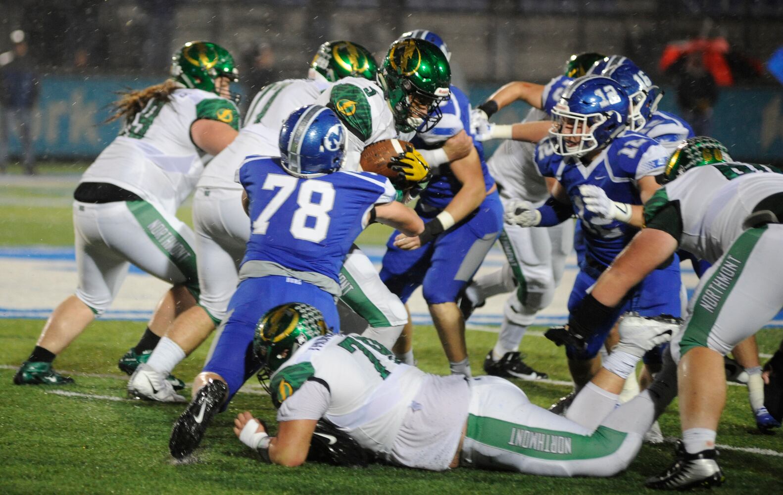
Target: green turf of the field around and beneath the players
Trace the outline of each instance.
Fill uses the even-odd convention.
[[[67,168],[67,170],[63,170]],[[49,181],[68,165],[42,168],[41,186],[20,186],[16,175],[0,175],[0,245],[68,245],[72,186]],[[16,181],[16,182],[15,182]],[[52,185],[54,183],[55,185]],[[189,221],[185,208],[180,217]],[[388,233],[373,231],[363,242],[378,244]],[[183,406],[143,403],[125,398],[127,377],[117,359],[139,338],[144,324],[99,321],[56,360],[58,370],[74,372],[77,383],[58,388],[11,384],[15,368],[32,349],[42,320],[0,319],[0,493],[644,493],[642,482],[668,466],[671,444],[645,445],[627,472],[611,479],[554,479],[506,472],[456,469],[434,473],[373,465],[363,470],[322,464],[281,468],[262,464],[239,443],[230,426],[242,410],[251,410],[270,425],[274,411],[255,385],[240,392],[229,410],[215,418],[193,462],[174,464],[168,455],[171,424]],[[535,329],[540,330],[540,329]],[[474,373],[495,341],[486,331],[468,331]],[[783,330],[759,334],[761,352],[770,353]],[[417,327],[419,366],[446,374],[448,367],[432,327]],[[208,345],[175,369],[186,382],[198,373]],[[532,331],[522,347],[528,361],[554,380],[567,380],[561,349]],[[518,382],[540,406],[549,406],[568,387]],[[677,403],[662,416],[667,436],[679,435]],[[718,441],[732,448],[721,452],[727,483],[717,493],[783,493],[783,457],[734,450],[783,451],[783,433],[756,432],[744,387],[728,388],[727,407]],[[652,493],[652,492],[651,492]]]

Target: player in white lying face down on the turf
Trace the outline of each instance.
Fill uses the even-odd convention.
[[[280,305],[262,318],[254,338],[256,359],[265,363],[259,378],[272,373],[278,432],[270,437],[249,412],[236,417],[234,432],[274,464],[304,463],[323,418],[334,425],[336,443],[348,436],[371,457],[409,468],[611,476],[633,461],[644,432],[673,398],[670,361],[648,390],[622,406],[604,390],[622,386],[644,352],[669,340],[679,326],[671,318],[625,317],[615,352],[574,403],[582,411],[579,424],[533,405],[503,378],[424,373],[376,341],[327,334],[313,314],[305,304]],[[344,450],[336,443],[334,450]]]

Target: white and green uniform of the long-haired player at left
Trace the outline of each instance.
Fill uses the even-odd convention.
[[[176,89],[164,103],[150,100],[96,158],[81,182],[114,184],[141,201],[74,201],[77,296],[103,313],[130,263],[198,294],[193,232],[176,218],[211,156],[190,139],[200,119],[239,126],[236,106],[200,89]]]

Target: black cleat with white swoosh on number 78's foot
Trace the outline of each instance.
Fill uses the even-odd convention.
[[[171,430],[171,438],[168,440],[171,457],[182,459],[196,450],[204,438],[209,421],[220,410],[228,393],[229,387],[218,380],[207,383],[197,392]]]

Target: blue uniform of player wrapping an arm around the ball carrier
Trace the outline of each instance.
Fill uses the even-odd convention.
[[[427,132],[418,132],[413,138],[414,146],[435,147],[462,130],[471,133],[471,105],[464,92],[451,86],[451,96],[440,109],[443,114],[441,120]],[[490,190],[495,181],[484,161],[484,148],[478,140],[474,139],[473,143],[481,159],[485,190]],[[461,186],[450,165],[441,165],[427,189],[421,193],[416,212],[424,222],[435,218],[453,200]],[[394,240],[399,234],[395,231],[386,244],[381,280],[402,302],[406,302],[416,287],[422,284],[424,300],[428,304],[455,302],[501,229],[503,205],[498,194],[493,192],[467,218],[419,249],[404,251],[395,247]]]

